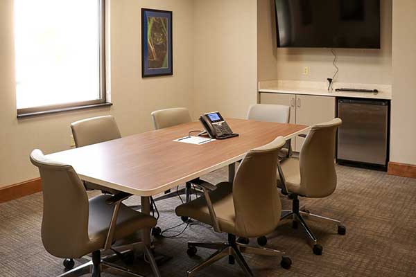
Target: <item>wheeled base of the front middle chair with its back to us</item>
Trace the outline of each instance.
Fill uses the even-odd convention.
[[[248,267],[247,262],[242,255],[242,253],[252,253],[262,256],[277,256],[281,257],[281,266],[288,269],[291,267],[292,261],[288,257],[284,256],[283,251],[278,251],[274,249],[250,247],[245,244],[239,244],[236,242],[235,235],[228,235],[228,242],[188,242],[188,255],[194,256],[196,254],[196,247],[201,247],[205,249],[214,249],[216,250],[209,258],[201,262],[199,265],[196,265],[192,269],[187,271],[187,276],[193,276],[196,271],[212,265],[214,262],[228,256],[228,262],[230,265],[234,265],[235,261],[239,264],[241,269],[243,269],[245,275],[253,276],[250,267]]]

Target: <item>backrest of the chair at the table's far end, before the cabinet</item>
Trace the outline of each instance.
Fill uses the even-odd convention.
[[[289,123],[290,117],[291,107],[284,105],[251,105],[247,114],[247,119],[276,123]]]

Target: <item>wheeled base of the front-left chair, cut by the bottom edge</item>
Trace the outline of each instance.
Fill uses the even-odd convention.
[[[157,268],[157,264],[155,258],[153,257],[153,253],[147,246],[144,246],[144,255],[148,259],[150,267],[152,267],[153,276],[160,277],[160,272]],[[114,263],[109,261],[113,259],[114,255],[101,258],[101,251],[95,251],[94,253],[92,253],[91,261],[83,265],[80,265],[79,267],[76,267],[74,269],[71,269],[58,277],[78,277],[84,276],[85,274],[91,274],[92,277],[101,277],[101,272],[106,271],[107,269],[117,271],[119,274],[123,274],[123,276],[144,277],[143,275],[137,274],[128,268],[115,265]]]

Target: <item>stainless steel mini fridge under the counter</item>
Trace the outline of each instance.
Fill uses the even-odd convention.
[[[387,169],[389,152],[389,100],[339,98],[337,162],[365,168]]]

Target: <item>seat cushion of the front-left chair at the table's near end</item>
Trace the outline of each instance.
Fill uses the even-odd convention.
[[[105,200],[110,197],[112,196],[99,195],[89,199],[88,234],[94,249],[102,249],[107,238],[115,207],[115,205],[105,203]],[[125,238],[140,229],[150,229],[156,226],[156,223],[155,217],[145,215],[121,204],[114,232],[114,240]]]

